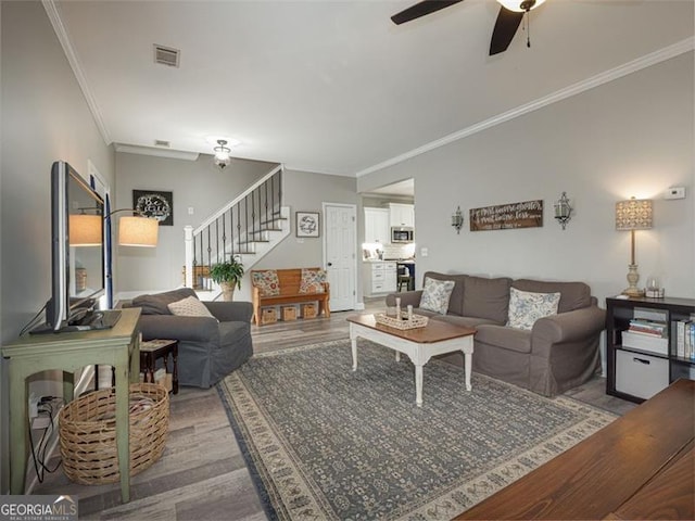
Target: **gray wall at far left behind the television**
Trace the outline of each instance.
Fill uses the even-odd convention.
[[[113,182],[114,154],[98,131],[41,3],[3,1],[0,9],[0,340],[8,342],[50,296],[51,164],[65,160],[87,176],[90,160]],[[0,493],[7,493],[8,379],[1,369]]]

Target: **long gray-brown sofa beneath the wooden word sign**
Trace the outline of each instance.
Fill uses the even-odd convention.
[[[605,312],[583,282],[511,280],[428,271],[424,276],[453,280],[446,315],[419,308],[422,290],[392,293],[387,305],[412,304],[415,313],[430,320],[444,320],[476,328],[473,371],[514,383],[535,393],[554,396],[584,383],[601,370],[598,341],[605,328]],[[509,288],[533,293],[560,293],[557,315],[541,318],[532,329],[505,326]],[[463,356],[447,361],[463,364]]]

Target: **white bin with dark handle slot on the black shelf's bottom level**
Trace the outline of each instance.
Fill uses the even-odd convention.
[[[616,350],[616,391],[650,398],[669,385],[669,360]]]

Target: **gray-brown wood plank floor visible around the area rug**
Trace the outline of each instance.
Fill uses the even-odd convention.
[[[379,298],[365,304],[368,310],[384,307]],[[252,326],[254,352],[346,339],[345,317],[350,313],[333,313],[329,319]],[[606,395],[602,378],[567,394],[619,415],[634,407]],[[129,504],[121,505],[118,484],[76,485],[60,468],[48,474],[33,494],[78,496],[80,519],[267,519],[215,389],[181,387],[177,395],[172,395],[169,422],[162,458],[131,478]],[[52,466],[53,462],[49,465]]]

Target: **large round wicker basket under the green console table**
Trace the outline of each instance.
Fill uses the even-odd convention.
[[[116,448],[116,394],[104,389],[71,402],[59,415],[63,471],[75,483],[121,479]],[[169,395],[154,383],[130,384],[130,475],[156,461],[169,425]]]

